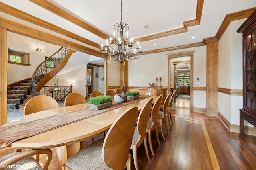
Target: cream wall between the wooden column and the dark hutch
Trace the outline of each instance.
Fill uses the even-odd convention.
[[[219,40],[219,87],[242,90],[242,34],[236,30],[246,19],[232,21]],[[218,92],[218,111],[231,124],[239,125],[242,96]],[[251,126],[249,123],[245,125]]]

